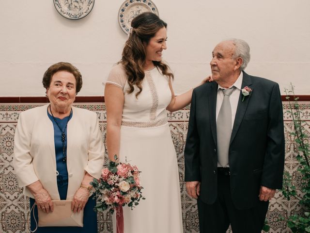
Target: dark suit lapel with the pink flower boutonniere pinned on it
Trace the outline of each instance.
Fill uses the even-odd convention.
[[[251,78],[248,76],[248,74],[244,71],[243,72],[243,80],[242,80],[242,85],[241,88],[244,88],[245,86],[248,86],[252,89],[253,92],[253,87],[252,82],[251,82]],[[233,131],[232,131],[232,136],[231,136],[231,141],[230,144],[232,144],[233,139],[236,135],[236,133],[238,132],[238,129],[240,127],[240,124],[243,120],[243,116],[246,113],[247,107],[248,107],[248,101],[251,98],[252,92],[250,93],[249,96],[247,96],[244,101],[242,102],[242,92],[240,91],[240,95],[239,95],[239,100],[238,100],[238,106],[237,106],[237,112],[236,112],[236,116],[234,118],[234,123],[233,123]]]

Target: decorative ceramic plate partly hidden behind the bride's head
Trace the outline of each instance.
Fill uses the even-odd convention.
[[[151,0],[126,0],[118,12],[118,22],[125,33],[129,33],[131,21],[143,12],[152,12],[158,16],[158,10]]]

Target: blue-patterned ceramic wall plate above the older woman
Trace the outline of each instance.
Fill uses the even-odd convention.
[[[65,18],[80,19],[93,9],[95,0],[54,0],[56,10]]]

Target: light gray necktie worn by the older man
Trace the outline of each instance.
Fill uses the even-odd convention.
[[[232,107],[229,96],[234,87],[221,89],[224,99],[217,116],[217,161],[225,167],[228,165],[228,150],[232,135]]]

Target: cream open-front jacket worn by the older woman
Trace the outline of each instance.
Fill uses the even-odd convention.
[[[19,115],[14,138],[14,169],[19,185],[40,181],[52,200],[60,200],[56,178],[54,128],[47,116],[49,104]],[[72,107],[67,126],[67,200],[74,197],[86,172],[99,178],[104,163],[104,144],[97,115]],[[27,187],[24,195],[34,198]]]

